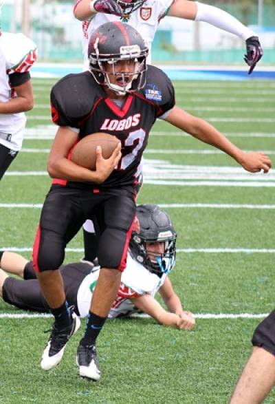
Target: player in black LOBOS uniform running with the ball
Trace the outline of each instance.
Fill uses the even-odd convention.
[[[140,162],[157,118],[228,153],[252,173],[262,169],[267,173],[271,167],[264,153],[241,151],[212,125],[175,106],[172,83],[162,70],[146,67],[147,54],[142,36],[131,25],[105,23],[89,42],[90,71],[65,76],[51,92],[52,119],[58,125],[47,162],[53,183],[43,204],[33,251],[36,276],[54,315],[41,361],[44,370],[61,361],[67,341],[79,327],[58,270],[65,246],[85,220],[96,219],[101,269],[77,361],[82,376],[99,377],[96,339],[126,267]],[[74,164],[72,147],[98,131],[120,140],[111,157],[102,158],[98,146],[96,171]]]

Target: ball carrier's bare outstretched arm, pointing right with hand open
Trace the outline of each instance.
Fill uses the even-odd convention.
[[[173,107],[165,120],[201,140],[201,142],[208,143],[208,145],[224,151],[250,173],[256,173],[261,170],[268,173],[272,167],[272,161],[265,153],[257,151],[248,153],[239,149],[206,120],[192,116],[179,107]]]

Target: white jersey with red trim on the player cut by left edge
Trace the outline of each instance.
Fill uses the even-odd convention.
[[[1,32],[0,35],[0,101],[8,102],[17,94],[10,87],[9,74],[30,70],[36,60],[36,45],[23,34]],[[0,114],[0,143],[19,151],[22,147],[25,114]]]

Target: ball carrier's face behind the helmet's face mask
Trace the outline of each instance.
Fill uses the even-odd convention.
[[[109,76],[110,83],[122,88],[129,85],[135,73],[135,63],[134,59],[117,61],[116,63],[106,63],[105,72],[107,72]]]

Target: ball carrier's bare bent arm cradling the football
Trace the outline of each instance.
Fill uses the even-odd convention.
[[[68,181],[96,182],[101,184],[109,177],[120,160],[120,143],[108,159],[102,158],[101,149],[96,151],[96,171],[80,167],[67,159],[69,151],[74,147],[78,134],[69,127],[59,127],[47,161],[47,171],[52,178]]]

